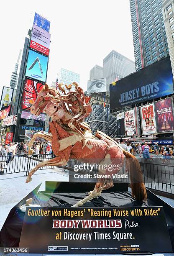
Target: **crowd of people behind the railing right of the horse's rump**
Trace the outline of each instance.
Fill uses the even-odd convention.
[[[145,160],[150,159],[150,149],[153,149],[154,155],[161,155],[161,160],[163,164],[165,160],[170,159],[171,155],[174,156],[174,153],[171,153],[171,148],[169,148],[169,145],[160,147],[158,143],[155,143],[154,146],[150,147],[148,146],[147,141],[145,141],[144,144],[138,143],[136,145],[134,145],[133,143],[131,144],[130,141],[126,141],[125,144],[123,138],[120,138],[120,146],[126,151],[132,153],[134,156],[136,156],[136,154],[139,154],[140,157],[143,155],[143,158]]]

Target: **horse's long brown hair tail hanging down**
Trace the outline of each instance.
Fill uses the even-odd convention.
[[[143,175],[141,173],[140,164],[136,157],[133,156],[130,152],[123,149],[123,154],[126,157],[126,163],[128,163],[132,194],[138,201],[146,201],[147,193],[143,182]]]

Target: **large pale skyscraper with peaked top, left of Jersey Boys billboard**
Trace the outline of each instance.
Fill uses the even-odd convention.
[[[135,62],[119,54],[117,51],[111,51],[103,59],[103,75],[106,78],[107,91],[112,82],[126,77],[135,72]]]

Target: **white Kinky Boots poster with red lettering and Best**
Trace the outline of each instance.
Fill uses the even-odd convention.
[[[125,111],[125,136],[136,134],[135,110]]]

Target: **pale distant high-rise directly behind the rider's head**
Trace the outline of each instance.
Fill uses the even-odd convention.
[[[58,82],[67,84],[67,85],[72,84],[73,82],[77,82],[79,84],[80,75],[70,70],[61,68],[61,71],[58,74]],[[75,87],[74,85],[72,85],[72,91],[74,89]],[[65,91],[68,92],[66,88],[65,88]]]

